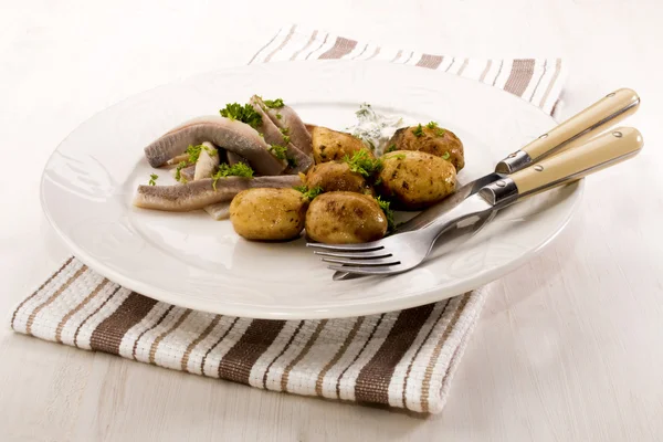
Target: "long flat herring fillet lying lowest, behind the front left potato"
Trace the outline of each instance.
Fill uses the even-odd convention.
[[[204,178],[175,186],[138,186],[134,197],[134,206],[144,209],[186,212],[203,209],[206,206],[230,201],[235,194],[246,189],[254,188],[290,188],[302,185],[297,175],[280,177],[227,177],[217,181],[217,189],[212,187],[212,179]]]

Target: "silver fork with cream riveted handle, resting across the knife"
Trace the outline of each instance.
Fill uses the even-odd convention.
[[[462,203],[415,231],[397,233],[362,244],[307,243],[328,269],[362,275],[390,275],[421,264],[435,242],[463,220],[478,220],[516,201],[576,181],[636,155],[642,135],[635,128],[620,127],[586,145],[545,158],[530,167],[482,188]]]

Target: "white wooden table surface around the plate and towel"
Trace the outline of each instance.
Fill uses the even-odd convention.
[[[561,116],[621,86],[643,98],[633,161],[492,293],[441,415],[259,391],[0,328],[0,440],[663,438],[663,87],[659,0],[236,2],[0,0],[0,312],[67,251],[39,203],[56,144],[97,110],[245,64],[283,24],[463,56],[564,56]],[[496,6],[496,4],[499,6]],[[7,323],[6,323],[7,324]]]

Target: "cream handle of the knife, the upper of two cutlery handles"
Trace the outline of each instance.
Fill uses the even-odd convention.
[[[633,90],[614,91],[497,164],[498,173],[513,173],[532,162],[585,143],[596,129],[633,115],[640,97]]]

